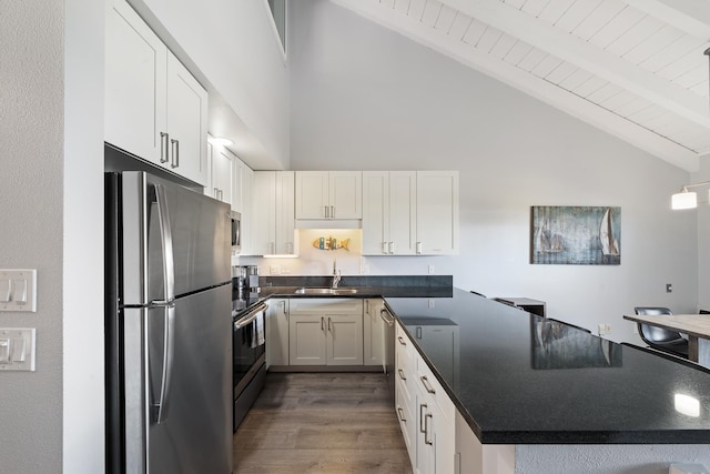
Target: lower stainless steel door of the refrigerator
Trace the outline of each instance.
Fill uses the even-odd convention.
[[[232,472],[231,299],[223,285],[172,315],[125,311],[128,472]]]

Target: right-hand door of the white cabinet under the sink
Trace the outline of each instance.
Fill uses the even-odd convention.
[[[363,314],[327,316],[327,365],[363,365]]]

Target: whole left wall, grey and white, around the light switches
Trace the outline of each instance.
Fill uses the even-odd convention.
[[[37,269],[38,302],[0,313],[37,329],[37,371],[0,373],[0,472],[101,472],[103,4],[1,10],[0,266]]]

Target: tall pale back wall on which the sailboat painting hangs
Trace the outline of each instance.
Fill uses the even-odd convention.
[[[635,305],[696,309],[696,220],[670,211],[687,172],[327,0],[291,21],[292,169],[460,172],[460,255],[368,258],[371,273],[433,263],[616,341],[640,342]],[[531,205],[621,206],[621,265],[529,264]]]

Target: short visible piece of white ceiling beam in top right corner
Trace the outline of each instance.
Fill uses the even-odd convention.
[[[680,31],[710,41],[710,8],[707,0],[626,0],[641,10]]]

